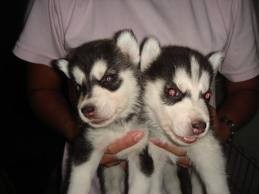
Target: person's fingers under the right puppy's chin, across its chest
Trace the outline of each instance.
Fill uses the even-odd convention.
[[[163,143],[157,139],[151,139],[150,140],[154,145],[165,149],[166,151],[176,155],[177,157],[179,157],[179,159],[177,160],[177,164],[181,167],[184,168],[188,168],[191,166],[191,161],[188,158],[186,151],[174,144],[168,144],[168,143]]]

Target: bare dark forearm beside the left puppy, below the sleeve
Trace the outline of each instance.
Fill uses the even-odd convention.
[[[78,134],[71,106],[62,90],[64,80],[52,68],[28,64],[27,90],[35,114],[71,141]]]

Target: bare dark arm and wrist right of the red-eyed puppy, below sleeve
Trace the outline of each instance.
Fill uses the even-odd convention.
[[[231,134],[231,129],[226,123],[220,121],[221,117],[226,116],[240,128],[256,113],[259,106],[259,76],[241,82],[225,80],[224,92],[225,99],[222,104],[216,112],[212,110],[215,134],[221,142],[226,142]]]

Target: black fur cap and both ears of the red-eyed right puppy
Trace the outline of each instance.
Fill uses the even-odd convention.
[[[199,64],[199,76],[201,76],[202,71],[207,71],[213,78],[223,60],[223,54],[212,52],[205,56],[189,47],[161,46],[155,37],[148,37],[141,44],[140,69],[146,77],[145,79],[151,80],[171,78],[177,68],[185,69],[192,76],[191,58],[195,58]]]

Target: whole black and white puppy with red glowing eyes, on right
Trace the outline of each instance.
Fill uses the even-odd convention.
[[[183,147],[203,181],[207,194],[229,194],[221,146],[213,136],[208,103],[211,83],[223,60],[221,52],[208,56],[180,46],[161,47],[147,38],[141,51],[140,67],[144,83],[144,106],[151,125],[151,137]],[[149,144],[154,159],[150,193],[180,194],[176,158]],[[159,150],[158,150],[159,149]],[[162,181],[164,184],[162,185]],[[193,193],[202,193],[198,177],[192,173]]]

